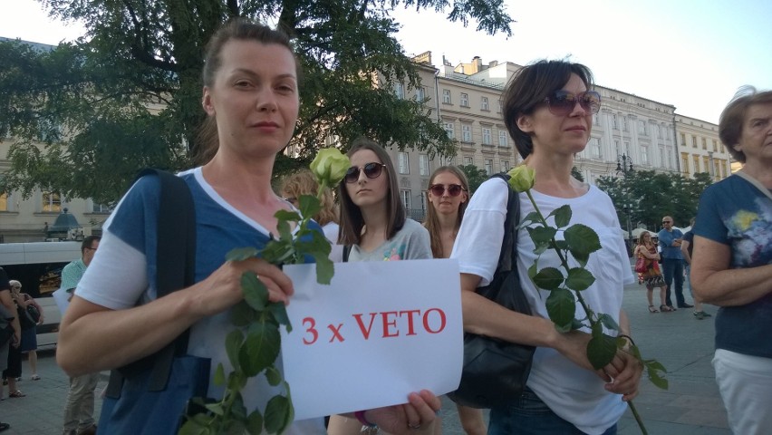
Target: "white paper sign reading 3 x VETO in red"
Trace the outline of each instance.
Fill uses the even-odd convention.
[[[458,388],[463,363],[456,260],[285,266],[295,295],[282,329],[295,420],[407,402],[412,391]]]

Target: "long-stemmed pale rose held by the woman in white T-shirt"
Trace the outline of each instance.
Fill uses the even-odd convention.
[[[571,221],[571,208],[567,205],[555,208],[546,218],[554,217],[557,227],[550,227],[545,216],[542,215],[536,200],[531,195],[531,189],[534,187],[536,172],[526,165],[520,165],[509,171],[509,185],[516,192],[525,192],[531,204],[534,206],[533,212],[529,213],[523,219],[521,227],[526,227],[528,234],[533,239],[536,246],[536,254],[541,256],[546,249],[554,249],[565,274],[555,267],[545,267],[538,270],[538,260],[533,266],[528,268],[528,276],[534,284],[542,289],[548,290],[550,295],[546,299],[547,314],[550,320],[555,323],[555,328],[561,333],[567,333],[575,329],[588,326],[592,338],[587,343],[587,359],[593,365],[595,370],[603,369],[612,362],[614,355],[618,350],[630,353],[642,363],[646,368],[651,383],[667,389],[667,380],[661,377],[660,372],[665,372],[664,366],[656,360],[643,360],[638,347],[623,337],[612,337],[603,333],[603,327],[609,330],[619,331],[619,325],[609,314],[596,314],[590,306],[584,301],[582,291],[593,284],[595,278],[593,274],[584,266],[587,264],[589,256],[594,251],[601,248],[600,238],[592,228],[582,224],[574,224],[568,227]],[[555,240],[555,234],[558,228],[566,227],[564,231],[565,239]],[[568,265],[568,253],[579,263],[578,267]],[[573,291],[573,292],[572,292]],[[575,295],[575,296],[574,296]],[[582,320],[574,319],[575,304],[579,303],[587,314],[586,325]],[[627,347],[629,345],[629,348]],[[632,415],[638,422],[643,434],[647,430],[643,425],[641,416],[632,404],[632,400],[627,402],[632,411]]]

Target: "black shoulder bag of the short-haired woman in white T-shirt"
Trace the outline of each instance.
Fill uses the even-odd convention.
[[[493,177],[507,181],[509,176]],[[477,292],[488,299],[522,314],[531,314],[531,307],[520,286],[517,273],[517,227],[520,223],[520,200],[508,187],[507,218],[504,221],[504,241],[498,256],[493,281]],[[509,343],[497,338],[464,333],[464,369],[458,390],[448,394],[456,403],[472,408],[498,408],[515,401],[523,393],[531,372],[536,347]]]

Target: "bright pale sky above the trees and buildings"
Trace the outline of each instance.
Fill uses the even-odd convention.
[[[443,56],[454,66],[474,56],[521,65],[568,58],[590,67],[598,85],[713,123],[740,86],[772,89],[769,0],[504,1],[516,20],[508,38],[404,9],[392,14],[402,24],[396,37],[406,53],[431,51],[436,66]],[[0,36],[55,44],[83,33],[35,0],[0,0]]]

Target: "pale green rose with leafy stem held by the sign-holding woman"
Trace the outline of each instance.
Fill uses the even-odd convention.
[[[316,280],[330,284],[333,278],[333,262],[330,261],[330,242],[321,231],[309,228],[311,218],[321,208],[321,196],[328,189],[341,182],[351,166],[348,157],[340,150],[320,150],[311,163],[311,171],[319,184],[316,197],[304,195],[298,198],[299,213],[294,210],[279,210],[277,230],[279,238],[272,238],[264,249],[243,247],[227,254],[228,261],[261,257],[277,266],[303,264],[306,256],[313,256],[316,264]],[[290,222],[297,223],[294,232]],[[217,366],[214,382],[225,385],[220,401],[213,403],[198,399],[206,411],[188,416],[179,433],[181,435],[200,433],[250,433],[259,434],[265,429],[269,433],[282,433],[294,420],[294,409],[290,386],[275,367],[281,349],[280,325],[292,332],[292,325],[286,314],[285,304],[270,302],[268,291],[260,279],[251,273],[241,276],[244,300],[232,310],[231,321],[236,328],[227,334],[226,351],[233,370],[225,373],[222,364]],[[271,398],[265,412],[259,410],[247,414],[241,390],[246,382],[260,373],[273,386],[281,384],[285,395]]]

